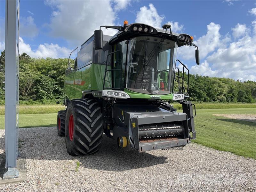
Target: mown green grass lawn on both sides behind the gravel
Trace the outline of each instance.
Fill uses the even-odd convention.
[[[256,159],[255,123],[229,119],[212,114],[256,114],[256,108],[197,109],[195,143],[221,151]],[[19,115],[19,126],[57,126],[57,114]],[[0,115],[0,129],[4,129],[4,115]]]

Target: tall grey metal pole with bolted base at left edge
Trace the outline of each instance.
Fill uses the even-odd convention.
[[[5,167],[3,179],[19,177],[18,120],[19,120],[19,13],[20,1],[5,3]]]

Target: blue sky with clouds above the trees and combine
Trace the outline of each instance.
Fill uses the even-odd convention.
[[[32,57],[68,57],[100,25],[171,23],[172,31],[195,37],[178,51],[191,73],[256,80],[255,1],[25,1],[20,0],[20,50]],[[0,49],[4,49],[5,1],[0,0]],[[104,31],[113,35],[115,31]]]

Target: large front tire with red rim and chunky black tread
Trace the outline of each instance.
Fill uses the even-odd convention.
[[[102,141],[102,125],[101,108],[95,100],[71,100],[65,124],[68,153],[81,156],[97,152]]]

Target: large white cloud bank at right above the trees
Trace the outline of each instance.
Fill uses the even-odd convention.
[[[256,15],[256,8],[249,12]],[[229,34],[225,36],[220,34],[220,25],[215,23],[207,25],[207,34],[194,42],[198,45],[200,58],[204,62],[199,66],[192,66],[190,73],[256,81],[255,19],[252,21],[252,27],[237,23],[231,28],[231,37]],[[251,33],[251,30],[254,33]],[[178,49],[178,53],[183,60],[194,60],[194,49],[184,46]]]

